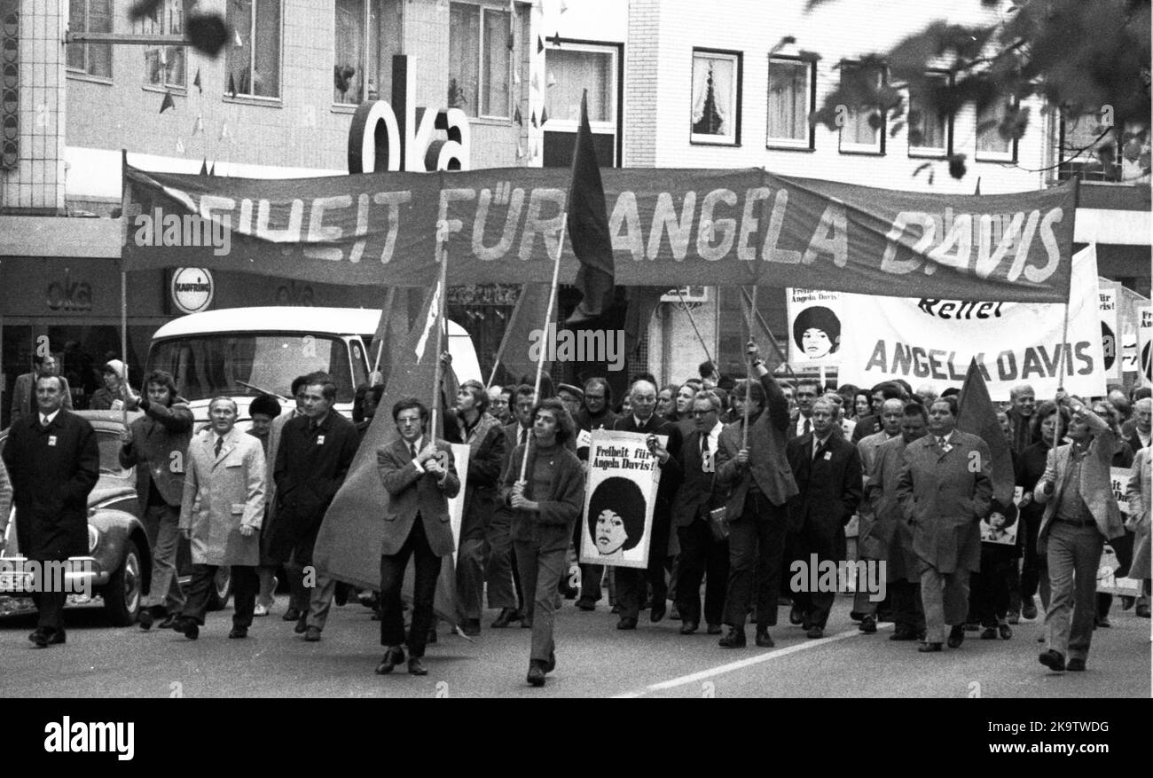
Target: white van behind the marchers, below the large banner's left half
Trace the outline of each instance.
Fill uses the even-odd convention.
[[[145,372],[167,370],[197,422],[206,422],[214,396],[236,400],[240,418],[261,392],[279,394],[287,410],[292,382],[316,370],[337,384],[336,409],[352,417],[356,386],[368,383],[375,353],[369,345],[380,310],[369,308],[224,308],[182,316],[152,335]],[[452,367],[464,382],[481,379],[473,340],[449,322]],[[382,369],[386,369],[382,365]],[[244,424],[243,426],[247,426]]]

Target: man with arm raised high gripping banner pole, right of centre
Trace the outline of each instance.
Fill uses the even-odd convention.
[[[785,437],[789,432],[789,401],[760,358],[756,343],[748,341],[746,356],[760,376],[759,384],[740,384],[733,398],[748,403],[748,441],[743,445],[744,416],[724,428],[715,456],[717,484],[729,489],[729,588],[724,622],[729,634],[722,648],[745,647],[745,618],[756,591],[756,644],[773,648],[769,627],[777,624],[777,597],[784,565],[786,504],[797,493]],[[800,390],[798,387],[798,401]],[[808,386],[815,390],[814,386]],[[814,391],[815,394],[815,391]],[[744,410],[744,407],[740,408]],[[812,405],[809,405],[812,414]],[[812,424],[812,421],[811,421]],[[758,566],[760,575],[754,575]]]

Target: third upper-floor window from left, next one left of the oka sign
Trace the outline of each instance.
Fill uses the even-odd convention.
[[[247,97],[280,97],[281,0],[229,0],[225,91]],[[228,83],[228,80],[232,83]]]

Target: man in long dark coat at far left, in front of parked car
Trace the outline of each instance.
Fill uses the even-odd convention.
[[[65,383],[58,376],[36,380],[37,413],[8,431],[3,461],[16,506],[16,542],[31,562],[66,561],[88,553],[88,496],[100,477],[100,450],[86,420],[63,409]],[[67,592],[48,583],[32,592],[39,611],[29,640],[37,648],[65,642]],[[42,586],[42,588],[45,588]]]

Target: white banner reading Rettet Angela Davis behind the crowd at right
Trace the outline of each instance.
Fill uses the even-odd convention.
[[[940,391],[959,385],[975,358],[995,401],[1023,383],[1042,398],[1058,385],[1082,396],[1105,394],[1092,246],[1073,257],[1073,289],[1064,342],[1064,305],[845,295],[839,380],[873,386],[903,378]]]

